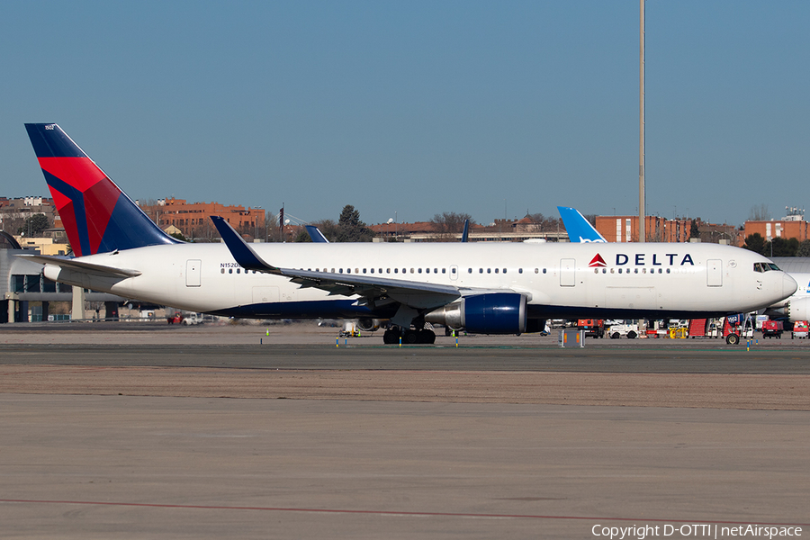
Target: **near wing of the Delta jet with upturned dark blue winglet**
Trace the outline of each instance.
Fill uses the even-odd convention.
[[[295,268],[280,268],[267,263],[242,239],[226,220],[211,216],[220,232],[222,241],[230,254],[243,268],[273,275],[284,275],[302,288],[316,287],[330,294],[364,297],[364,302],[373,304],[385,300],[400,302],[416,309],[430,309],[443,306],[468,293],[453,285],[426,284],[408,280],[374,277],[369,275],[332,274],[313,272]]]

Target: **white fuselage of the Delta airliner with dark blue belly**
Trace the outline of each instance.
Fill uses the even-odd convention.
[[[464,291],[527,296],[529,316],[604,313],[616,317],[688,316],[753,311],[796,290],[785,273],[754,272],[764,257],[715,244],[254,244],[280,268],[446,284]],[[80,257],[137,270],[136,277],[80,274],[47,265],[67,284],[190,311],[240,317],[385,315],[356,296],[302,288],[287,277],[247,272],[223,244],[139,247]],[[390,315],[390,314],[389,314]]]

